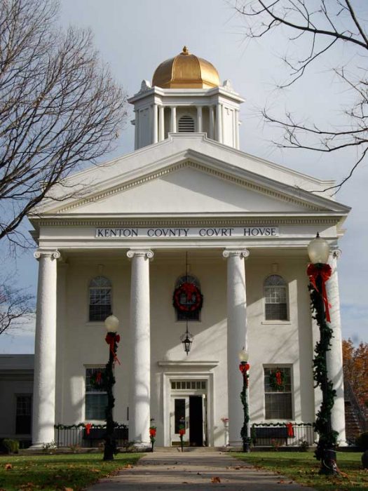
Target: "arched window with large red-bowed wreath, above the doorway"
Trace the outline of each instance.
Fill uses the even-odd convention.
[[[194,288],[181,288],[186,283],[193,285]],[[202,295],[200,293],[200,283],[196,276],[180,276],[175,283],[174,307],[177,312],[177,321],[199,321],[200,310],[202,309]]]

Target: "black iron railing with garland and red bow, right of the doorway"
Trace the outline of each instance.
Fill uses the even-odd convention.
[[[250,437],[254,447],[300,447],[315,443],[313,423],[253,423]]]

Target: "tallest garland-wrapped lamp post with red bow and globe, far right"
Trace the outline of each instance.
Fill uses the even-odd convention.
[[[327,264],[329,245],[320,234],[309,243],[308,255],[311,264],[308,265],[309,291],[315,321],[320,328],[320,340],[315,345],[313,359],[313,377],[316,385],[322,391],[322,404],[315,418],[315,431],[319,435],[315,457],[320,460],[320,474],[332,475],[338,473],[336,466],[336,437],[337,431],[332,429],[331,410],[334,405],[336,391],[328,378],[327,351],[331,346],[332,329],[329,327],[329,303],[325,283],[331,276],[331,267]]]

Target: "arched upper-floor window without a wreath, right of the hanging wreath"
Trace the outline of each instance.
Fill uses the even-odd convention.
[[[264,281],[266,321],[287,321],[287,284],[278,274],[271,274]]]

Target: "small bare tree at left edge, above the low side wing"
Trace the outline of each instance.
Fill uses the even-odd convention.
[[[10,327],[23,327],[34,313],[34,295],[11,284],[10,278],[0,283],[0,335]]]

